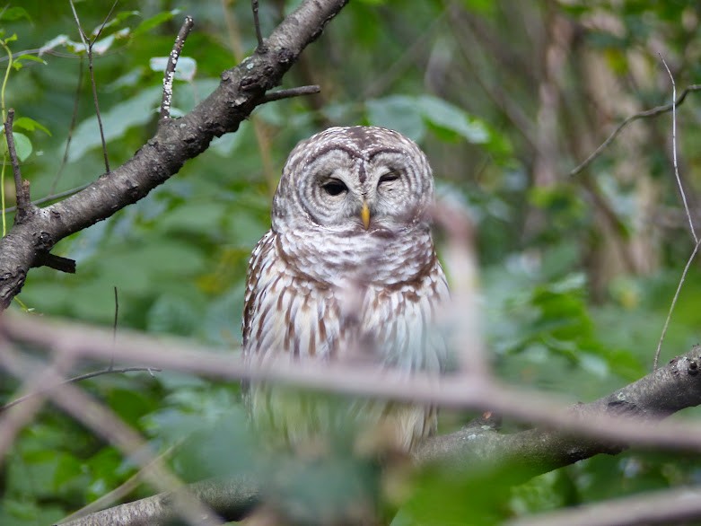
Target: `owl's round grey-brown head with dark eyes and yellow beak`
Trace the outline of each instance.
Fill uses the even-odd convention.
[[[273,229],[349,235],[427,224],[434,181],[425,153],[382,127],[330,127],[296,145],[273,202]]]

